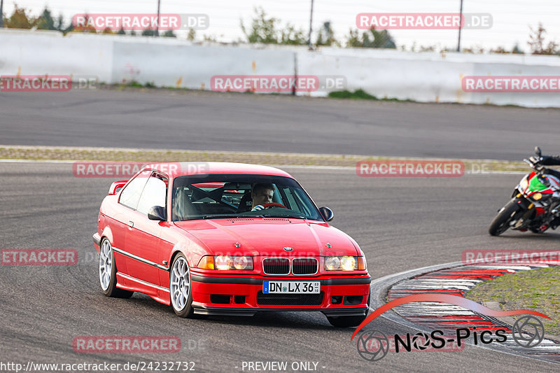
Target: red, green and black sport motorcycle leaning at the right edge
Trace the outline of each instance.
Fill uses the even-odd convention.
[[[535,147],[536,157],[524,159],[534,171],[521,178],[512,200],[498,211],[488,230],[499,236],[508,229],[542,233],[560,225],[560,172],[545,168],[542,152]]]

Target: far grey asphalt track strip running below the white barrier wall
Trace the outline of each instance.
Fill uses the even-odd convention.
[[[148,90],[0,94],[0,144],[522,160],[558,109]]]

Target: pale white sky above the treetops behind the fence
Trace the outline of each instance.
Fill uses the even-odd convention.
[[[62,13],[69,22],[76,13],[156,13],[158,0],[4,0],[3,13],[10,15],[14,3],[38,15],[45,6],[53,15]],[[330,21],[335,37],[344,40],[350,28],[356,28],[358,13],[458,13],[460,0],[314,0],[313,28]],[[311,0],[204,0],[182,1],[161,0],[161,13],[204,13],[209,15],[210,27],[197,31],[197,38],[203,34],[214,36],[218,41],[236,41],[244,35],[240,20],[249,24],[253,9],[262,7],[268,15],[290,23],[296,28],[309,32]],[[529,27],[536,28],[542,22],[547,29],[547,40],[560,43],[560,1],[558,0],[464,0],[464,13],[490,13],[493,18],[491,29],[463,30],[461,45],[475,48],[496,48],[502,46],[511,50],[518,44],[528,51]],[[410,48],[413,44],[437,49],[456,48],[456,30],[391,30],[398,46]],[[186,38],[186,33],[178,33]]]

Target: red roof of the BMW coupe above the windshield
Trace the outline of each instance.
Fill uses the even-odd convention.
[[[162,171],[171,178],[202,174],[255,174],[293,178],[286,171],[276,169],[275,167],[232,162],[165,162],[148,164],[144,169]]]

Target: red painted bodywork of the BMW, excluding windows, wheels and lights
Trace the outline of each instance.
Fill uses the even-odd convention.
[[[174,178],[186,174],[258,174],[292,178],[285,171],[250,164],[209,162],[200,172],[195,167],[185,167],[188,164],[180,165],[176,169],[169,164],[156,164],[151,165],[151,169],[161,169],[169,177],[168,185],[173,185]],[[324,270],[325,256],[356,257],[363,256],[363,252],[356,241],[325,221],[247,217],[172,222],[171,209],[167,209],[167,221],[158,222],[119,204],[122,190],[105,197],[99,209],[98,230],[94,234],[94,246],[98,253],[99,242],[104,238],[109,239],[113,247],[118,288],[145,293],[158,302],[171,304],[169,267],[174,255],[181,252],[190,268],[193,307],[197,313],[253,314],[267,309],[315,310],[325,314],[345,310],[367,312],[371,281],[367,270]],[[167,193],[167,206],[171,206],[171,195]],[[293,251],[284,251],[286,246]],[[251,255],[254,269],[199,269],[197,265],[204,255]],[[262,269],[262,259],[269,256],[316,258],[318,273],[267,275]],[[321,281],[322,302],[295,306],[258,304],[257,294],[265,280]],[[230,302],[213,303],[211,295],[229,296]],[[333,296],[353,296],[359,302],[333,304]]]

